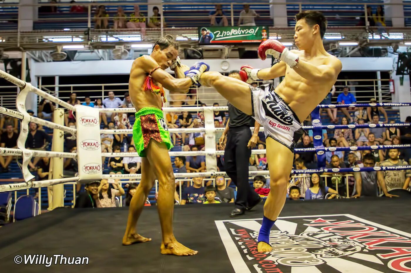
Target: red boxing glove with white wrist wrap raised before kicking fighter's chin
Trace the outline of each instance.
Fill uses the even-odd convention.
[[[298,64],[298,55],[290,52],[280,41],[269,39],[263,41],[258,47],[260,59],[265,60],[267,55],[272,55],[275,59],[284,61],[291,68]]]

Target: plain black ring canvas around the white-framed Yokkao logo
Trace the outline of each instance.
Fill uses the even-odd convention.
[[[405,196],[395,199],[287,201],[281,216],[352,214],[396,230],[410,232],[410,200]],[[132,246],[121,245],[127,221],[127,208],[55,209],[0,228],[0,271],[235,272],[215,221],[262,218],[263,204],[238,218],[228,216],[232,206],[232,204],[211,204],[175,207],[175,237],[186,246],[199,251],[198,255],[192,257],[160,254],[161,229],[155,206],[144,208],[138,225],[139,233],[151,237],[152,241]],[[15,264],[16,255],[23,257],[29,254],[43,254],[48,257],[58,254],[65,257],[88,257],[89,263],[87,265],[52,264],[50,267],[41,264]],[[408,266],[411,267],[410,264]],[[248,268],[244,268],[241,271],[258,272],[247,270]],[[236,272],[240,271],[236,270]]]

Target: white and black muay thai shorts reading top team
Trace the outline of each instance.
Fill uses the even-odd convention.
[[[250,86],[253,118],[264,126],[264,134],[294,152],[304,134],[301,122],[287,103],[277,95],[272,84]]]

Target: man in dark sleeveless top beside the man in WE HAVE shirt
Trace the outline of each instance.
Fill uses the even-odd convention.
[[[363,158],[363,163],[359,163],[356,165],[358,168],[364,167],[374,167],[377,166],[375,162],[375,157],[371,154],[367,154]],[[387,192],[387,187],[384,180],[379,181],[377,179],[377,172],[376,171],[369,171],[369,172],[354,172],[354,178],[356,182],[356,187],[354,189],[353,198],[357,198],[360,196],[378,196],[378,186],[381,187],[384,195],[387,197],[393,197],[392,195]]]

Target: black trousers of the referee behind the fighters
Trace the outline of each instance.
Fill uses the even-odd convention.
[[[248,204],[259,200],[248,181],[248,164],[251,149],[247,148],[251,138],[249,126],[229,128],[226,148],[224,150],[224,168],[227,175],[237,186],[236,207],[245,209]]]

